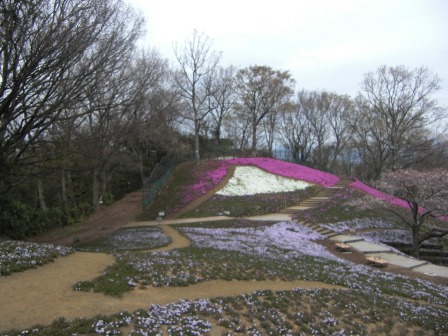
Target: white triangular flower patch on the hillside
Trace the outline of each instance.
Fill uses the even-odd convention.
[[[270,194],[305,189],[311,184],[286,177],[269,174],[256,167],[239,166],[227,185],[216,194],[223,196],[245,196]]]

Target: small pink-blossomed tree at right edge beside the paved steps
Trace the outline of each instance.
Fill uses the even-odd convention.
[[[448,170],[433,169],[417,171],[401,169],[389,171],[378,181],[378,188],[391,196],[383,199],[387,210],[412,230],[412,252],[419,257],[420,245],[430,238],[448,235],[448,223],[442,226],[430,225],[429,217],[448,221]],[[409,211],[399,211],[397,198],[403,200]],[[386,202],[384,202],[386,201]]]

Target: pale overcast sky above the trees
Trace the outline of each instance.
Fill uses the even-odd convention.
[[[173,42],[203,32],[223,65],[288,70],[297,89],[355,96],[381,65],[426,66],[448,105],[447,0],[125,0],[147,21],[144,45],[174,60]]]

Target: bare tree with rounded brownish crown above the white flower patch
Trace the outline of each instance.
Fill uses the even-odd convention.
[[[237,74],[239,100],[236,109],[247,116],[252,132],[251,151],[257,149],[258,128],[271,113],[286,109],[293,93],[294,79],[288,71],[273,70],[268,66],[254,65]]]

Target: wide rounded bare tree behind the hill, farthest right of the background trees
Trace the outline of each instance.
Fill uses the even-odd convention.
[[[359,156],[377,179],[385,169],[410,167],[427,160],[433,136],[425,129],[446,116],[432,98],[440,79],[427,68],[380,67],[367,73],[351,121]]]

